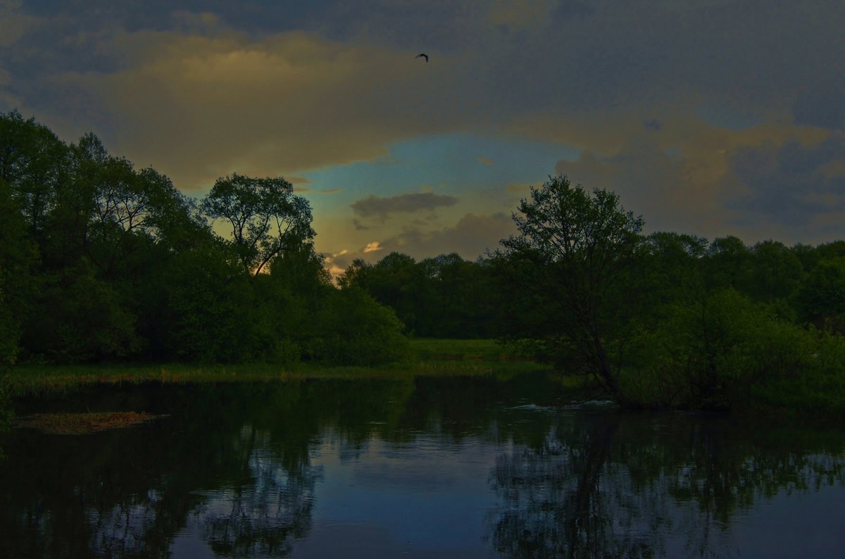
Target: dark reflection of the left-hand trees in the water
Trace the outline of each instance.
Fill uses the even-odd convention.
[[[169,557],[177,535],[220,555],[281,556],[311,525],[324,409],[296,384],[101,393],[172,416],[83,437],[20,431],[0,463],[3,557]],[[319,399],[319,398],[318,398]],[[113,400],[120,400],[117,404]]]

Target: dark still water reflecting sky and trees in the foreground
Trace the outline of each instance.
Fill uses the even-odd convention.
[[[0,439],[2,557],[842,556],[845,433],[577,404],[552,377],[97,389]]]

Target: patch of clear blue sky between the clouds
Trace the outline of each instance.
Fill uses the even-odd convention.
[[[425,189],[460,196],[511,183],[542,182],[561,159],[577,149],[524,138],[444,134],[412,138],[390,146],[371,161],[328,166],[303,174],[314,190],[341,189],[341,198],[390,197]]]

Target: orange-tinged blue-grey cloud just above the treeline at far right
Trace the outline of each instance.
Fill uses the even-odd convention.
[[[845,225],[830,225],[845,199],[837,194],[845,191],[843,145],[841,135],[820,128],[735,131],[674,119],[660,130],[630,131],[608,155],[585,150],[560,160],[555,171],[619,194],[648,231],[821,242],[845,234]]]

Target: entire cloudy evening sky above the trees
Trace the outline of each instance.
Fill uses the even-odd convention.
[[[284,176],[335,273],[477,258],[556,175],[646,232],[816,244],[845,237],[842,29],[842,0],[0,0],[0,111],[190,196]]]

